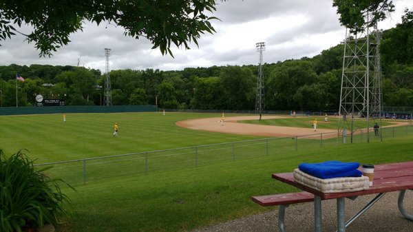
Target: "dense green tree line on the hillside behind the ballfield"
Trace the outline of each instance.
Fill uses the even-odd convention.
[[[413,106],[413,14],[385,30],[381,40],[383,104]],[[337,110],[341,88],[343,44],[312,58],[265,63],[265,109]],[[184,70],[112,70],[113,105],[155,105],[167,109],[255,108],[257,65],[188,67]],[[74,66],[0,66],[3,107],[34,106],[35,97],[60,98],[65,105],[103,105],[105,76]]]

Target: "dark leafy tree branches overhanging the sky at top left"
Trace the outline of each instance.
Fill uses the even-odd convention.
[[[189,43],[198,45],[201,34],[215,32],[211,20],[217,18],[207,15],[215,6],[214,0],[0,0],[0,41],[18,32],[14,25],[30,25],[27,41],[40,56],[51,56],[70,42],[71,33],[83,30],[83,22],[106,22],[125,28],[125,36],[149,39],[153,48],[173,56],[171,45],[190,49]]]

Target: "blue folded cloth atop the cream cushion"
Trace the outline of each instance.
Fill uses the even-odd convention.
[[[337,177],[359,177],[361,171],[358,162],[341,162],[341,161],[326,161],[315,164],[302,163],[298,166],[299,170],[308,175],[315,176],[321,179],[337,178]]]

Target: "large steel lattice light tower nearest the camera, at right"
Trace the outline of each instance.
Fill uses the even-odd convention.
[[[383,94],[379,54],[380,36],[381,32],[377,30],[377,25],[370,25],[368,14],[366,14],[366,25],[361,32],[346,31],[339,116],[343,119],[343,128],[350,129],[351,143],[355,131],[353,128],[355,118],[366,120],[368,143],[370,119],[381,118]],[[349,118],[351,118],[350,123]]]

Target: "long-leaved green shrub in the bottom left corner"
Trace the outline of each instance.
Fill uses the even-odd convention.
[[[0,149],[0,231],[56,226],[70,215],[63,207],[70,206],[70,199],[58,184],[63,180],[44,173],[50,168],[36,169],[22,150],[6,157]]]

